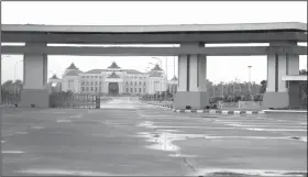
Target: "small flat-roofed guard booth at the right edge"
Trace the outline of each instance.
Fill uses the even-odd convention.
[[[287,85],[289,108],[290,109],[301,108],[304,102],[300,98],[299,85],[302,81],[306,81],[307,85],[307,75],[295,75],[295,76],[287,75],[284,76],[282,80],[286,81]]]

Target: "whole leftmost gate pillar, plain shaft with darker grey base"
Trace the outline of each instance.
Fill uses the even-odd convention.
[[[26,43],[30,46],[44,46],[44,43]],[[50,95],[47,87],[47,55],[24,54],[23,60],[23,89],[19,107],[47,108]]]

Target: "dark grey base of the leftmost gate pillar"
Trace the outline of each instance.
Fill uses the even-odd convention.
[[[48,108],[50,107],[50,91],[48,89],[23,89],[21,90],[21,108]]]

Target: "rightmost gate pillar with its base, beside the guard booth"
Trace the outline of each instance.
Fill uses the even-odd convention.
[[[271,43],[271,46],[292,46],[296,42]],[[284,76],[299,75],[299,56],[294,54],[268,54],[267,55],[267,86],[263,96],[263,107],[265,108],[288,108],[290,95],[293,104],[299,104],[299,89],[293,89],[292,93],[288,84],[283,80]],[[296,103],[297,102],[297,103]]]

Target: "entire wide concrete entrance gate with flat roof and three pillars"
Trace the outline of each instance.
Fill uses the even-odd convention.
[[[307,55],[307,24],[187,24],[187,25],[20,25],[2,24],[2,54],[24,55],[24,87],[20,107],[48,107],[47,55],[178,56],[178,90],[174,107],[204,109],[207,56],[267,56],[267,88],[263,106],[289,106],[295,91],[282,79],[299,75],[299,55]],[[270,46],[206,47],[205,44],[268,43]],[[179,47],[48,46],[47,44],[180,44]]]

